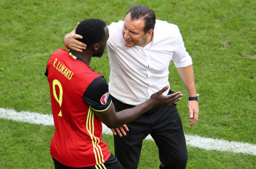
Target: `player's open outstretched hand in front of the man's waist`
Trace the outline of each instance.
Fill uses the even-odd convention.
[[[179,100],[181,100],[181,94],[180,92],[173,93],[171,95],[162,95],[163,92],[165,92],[167,89],[169,89],[169,85],[162,88],[162,90],[159,90],[158,92],[154,93],[150,99],[153,100],[153,104],[156,107],[165,107],[165,106],[172,106],[176,104]]]

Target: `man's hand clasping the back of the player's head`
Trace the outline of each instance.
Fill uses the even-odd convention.
[[[79,23],[77,23],[76,27],[78,26]],[[86,49],[86,44],[76,40],[76,39],[82,39],[83,36],[76,34],[76,28],[71,32],[68,33],[64,37],[64,45],[68,49],[72,49],[74,51],[79,51],[82,52],[82,49]]]

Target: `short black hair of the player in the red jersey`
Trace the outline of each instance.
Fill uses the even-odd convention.
[[[83,36],[82,39],[77,39],[83,42],[88,47],[102,41],[105,34],[106,23],[100,19],[86,19],[76,27],[76,34]]]

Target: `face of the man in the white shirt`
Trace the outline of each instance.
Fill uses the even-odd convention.
[[[131,14],[126,15],[123,24],[124,44],[127,47],[142,46],[146,43],[146,35],[144,34],[144,20],[131,20]]]

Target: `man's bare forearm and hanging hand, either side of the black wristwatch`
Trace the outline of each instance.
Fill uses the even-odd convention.
[[[188,67],[180,67],[177,69],[188,91],[189,97],[195,97],[197,94],[196,94],[196,86],[194,81],[193,66],[190,65]],[[191,118],[189,123],[191,127],[193,127],[193,125],[196,124],[199,116],[199,104],[197,100],[188,101],[188,111],[189,111],[189,117]]]

